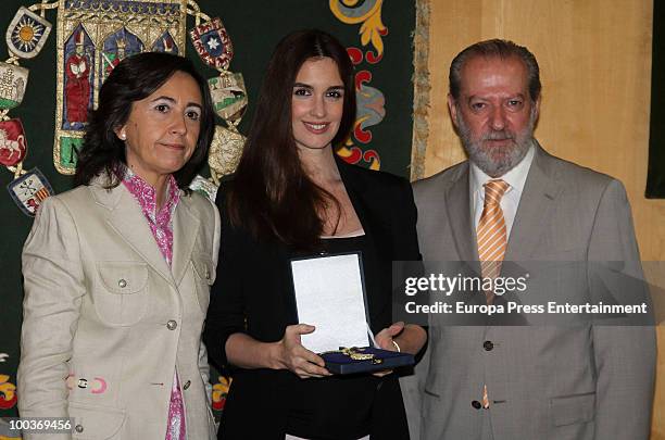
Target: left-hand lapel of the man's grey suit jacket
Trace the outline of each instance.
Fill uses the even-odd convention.
[[[468,164],[462,176],[451,185],[446,194],[448,218],[452,236],[457,247],[460,260],[473,262],[478,260],[476,231],[472,228],[470,204],[468,200]]]

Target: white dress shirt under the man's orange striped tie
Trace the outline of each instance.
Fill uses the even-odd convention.
[[[513,222],[515,222],[515,215],[517,214],[517,206],[519,206],[522,191],[524,190],[524,184],[526,183],[526,178],[529,174],[531,162],[534,162],[535,153],[536,149],[531,144],[526,155],[517,164],[517,166],[501,177],[490,177],[485,174],[485,172],[482,172],[482,169],[480,169],[475,163],[470,163],[468,191],[470,198],[470,215],[474,219],[474,230],[478,229],[478,223],[480,223],[480,216],[482,215],[482,205],[485,204],[484,185],[489,180],[502,179],[510,185],[509,189],[501,198],[501,210],[503,211],[503,218],[505,219],[506,237],[510,239]]]

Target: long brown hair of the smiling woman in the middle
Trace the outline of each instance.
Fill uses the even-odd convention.
[[[305,174],[293,139],[291,98],[302,64],[330,58],[344,85],[343,114],[332,144],[355,120],[353,66],[344,47],[317,29],[286,36],[275,48],[263,79],[242,158],[228,191],[228,214],[256,240],[277,240],[296,250],[316,249],[324,229],[319,213],[335,198]],[[339,211],[339,210],[338,210]]]

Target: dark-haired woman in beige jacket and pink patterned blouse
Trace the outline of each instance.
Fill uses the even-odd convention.
[[[128,58],[102,86],[79,186],[45,201],[23,250],[18,410],[72,418],[35,438],[214,437],[200,335],[219,216],[187,190],[213,131],[184,58]]]

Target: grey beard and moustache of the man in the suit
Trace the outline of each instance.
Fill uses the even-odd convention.
[[[536,112],[531,111],[529,124],[520,131],[509,129],[491,130],[482,134],[480,139],[472,139],[462,112],[457,110],[457,131],[468,159],[490,177],[500,177],[513,169],[526,155],[534,139]],[[502,147],[484,146],[486,140],[510,139],[511,143]]]

